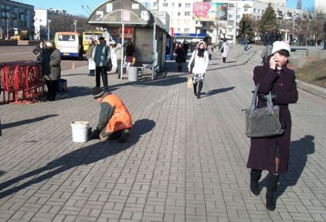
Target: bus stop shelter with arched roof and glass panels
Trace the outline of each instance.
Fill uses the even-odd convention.
[[[121,30],[122,44],[125,42],[125,30],[131,28],[137,65],[148,65],[151,68],[152,80],[164,66],[166,59],[164,24],[141,3],[133,0],[105,1],[90,15],[88,24],[108,30]],[[121,53],[123,58],[123,52]],[[119,65],[123,77],[123,59]]]

